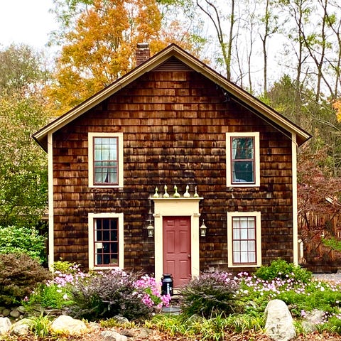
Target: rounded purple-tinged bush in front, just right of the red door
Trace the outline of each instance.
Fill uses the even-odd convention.
[[[229,315],[240,310],[237,303],[239,284],[226,272],[206,272],[180,289],[183,315],[205,318]]]

